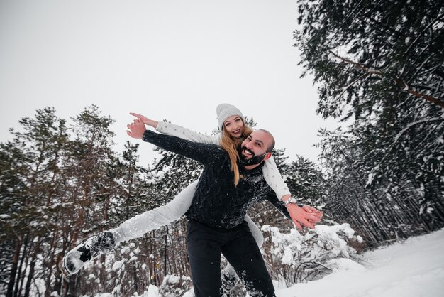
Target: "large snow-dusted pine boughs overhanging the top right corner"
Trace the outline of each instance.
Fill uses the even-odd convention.
[[[366,117],[388,99],[444,107],[442,2],[309,0],[299,13],[295,45],[324,117],[345,104],[348,117]]]

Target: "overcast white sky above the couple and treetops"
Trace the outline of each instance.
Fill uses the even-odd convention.
[[[317,130],[335,121],[299,78],[296,20],[296,0],[1,0],[0,141],[35,109],[67,119],[97,104],[121,151],[129,112],[211,132],[217,104],[231,103],[290,159],[316,161]]]

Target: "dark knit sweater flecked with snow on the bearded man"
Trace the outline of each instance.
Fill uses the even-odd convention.
[[[199,144],[148,130],[143,134],[143,141],[204,164],[192,205],[185,213],[189,220],[231,229],[243,222],[248,207],[265,199],[289,217],[284,203],[277,199],[265,182],[262,164],[252,170],[239,166],[241,178],[235,187],[230,158],[220,146]]]

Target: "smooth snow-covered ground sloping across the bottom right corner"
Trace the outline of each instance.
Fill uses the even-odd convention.
[[[367,264],[338,263],[332,274],[277,290],[277,297],[444,296],[444,229],[364,254]]]

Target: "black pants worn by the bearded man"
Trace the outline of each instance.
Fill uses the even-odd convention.
[[[190,220],[187,242],[196,297],[221,296],[221,253],[250,296],[275,296],[272,279],[247,222],[234,229],[217,229]]]

